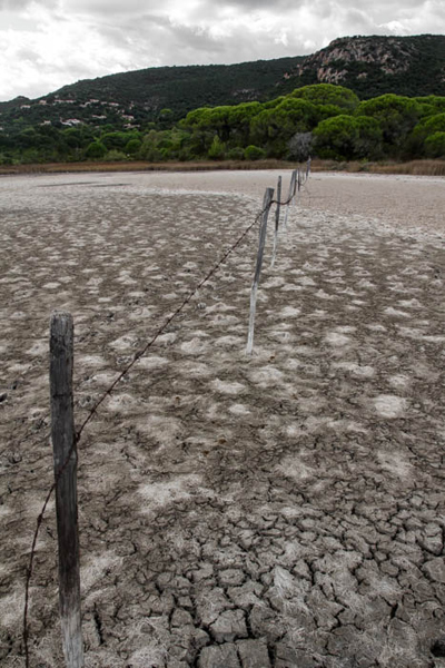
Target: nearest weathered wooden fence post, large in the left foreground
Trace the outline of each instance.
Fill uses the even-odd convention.
[[[72,358],[72,317],[69,313],[53,313],[50,326],[50,392],[59,542],[60,621],[67,668],[83,668]]]

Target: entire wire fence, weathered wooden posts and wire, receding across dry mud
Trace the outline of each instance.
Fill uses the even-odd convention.
[[[287,209],[295,196],[296,176],[293,173],[289,197],[286,202],[273,199],[274,188],[267,188],[264,197],[263,209],[255,220],[244,230],[238,239],[226,250],[207,275],[186,296],[179,307],[166,318],[156,334],[147,342],[145,347],[135,353],[131,362],[123,369],[119,376],[110,384],[103,394],[90,409],[87,418],[76,432],[73,426],[73,396],[72,396],[72,358],[73,358],[73,324],[72,317],[67,313],[55,313],[50,326],[50,375],[51,375],[51,436],[53,443],[55,482],[49,489],[41,511],[37,518],[36,530],[27,569],[24,606],[23,606],[23,646],[24,665],[30,668],[29,652],[29,602],[30,582],[33,573],[37,540],[44,519],[44,513],[52,492],[56,490],[57,525],[59,542],[59,601],[62,627],[63,654],[67,668],[83,668],[83,646],[81,638],[80,619],[80,571],[79,571],[79,539],[78,539],[78,514],[77,514],[77,445],[88,423],[96,415],[99,406],[109,396],[117,384],[129,373],[132,366],[155,344],[168,325],[184,311],[187,304],[198,291],[214,276],[227,258],[238,248],[250,230],[260,220],[259,250],[257,257],[257,269],[255,273],[253,293],[258,288],[258,281],[263,263],[263,254],[266,242],[267,218],[273,204],[277,205],[276,226],[279,224],[279,207]],[[279,193],[281,180],[279,178]],[[251,314],[250,314],[251,315]],[[255,306],[251,323],[255,321]],[[249,327],[250,336],[250,327]],[[251,346],[254,327],[251,326]],[[250,351],[251,352],[251,351]]]

